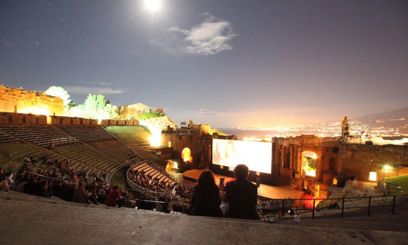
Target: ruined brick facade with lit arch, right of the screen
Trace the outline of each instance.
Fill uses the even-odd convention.
[[[320,197],[327,195],[328,186],[338,177],[369,181],[370,172],[377,173],[377,180],[408,174],[407,145],[350,144],[346,136],[313,135],[274,137],[272,142],[275,143],[273,174],[290,177],[299,190],[313,183],[312,187],[320,189]],[[302,152],[305,151],[317,155],[315,177],[307,176],[302,168]],[[385,165],[391,169],[384,169]]]

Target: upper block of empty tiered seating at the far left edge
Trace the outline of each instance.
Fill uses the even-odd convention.
[[[75,137],[65,134],[59,129],[49,125],[0,125],[0,131],[9,136],[28,141],[32,144],[47,147],[78,143]]]

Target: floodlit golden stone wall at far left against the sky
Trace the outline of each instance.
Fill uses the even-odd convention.
[[[59,97],[0,85],[0,111],[63,115],[64,105]]]

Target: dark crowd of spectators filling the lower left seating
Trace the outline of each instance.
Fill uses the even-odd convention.
[[[117,186],[111,188],[109,184],[104,183],[98,178],[97,172],[94,169],[90,172],[91,181],[88,182],[86,172],[72,170],[73,168],[70,167],[70,163],[66,159],[58,161],[58,159],[53,160],[50,156],[43,155],[39,161],[48,164],[49,168],[39,168],[36,172],[33,172],[30,163],[35,164],[37,161],[34,160],[34,162],[32,160],[32,157],[30,158],[29,156],[24,158],[25,163],[18,170],[15,178],[13,178],[13,173],[5,172],[0,168],[0,190],[18,191],[46,198],[55,196],[65,201],[93,203],[95,205],[106,204],[110,207],[138,207],[139,209],[157,210],[167,213],[188,212],[185,206],[172,205],[172,199],[166,199],[163,196],[157,198],[141,196],[143,201],[140,202],[133,198],[132,193],[118,190]],[[61,169],[64,170],[60,171]],[[74,174],[64,174],[67,172]],[[166,188],[165,186],[160,187]],[[171,191],[172,189],[167,190]]]

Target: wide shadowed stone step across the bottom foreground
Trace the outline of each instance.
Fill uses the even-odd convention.
[[[337,228],[334,222],[316,227],[192,217],[4,191],[0,217],[2,244],[405,244],[408,239],[407,231]]]

